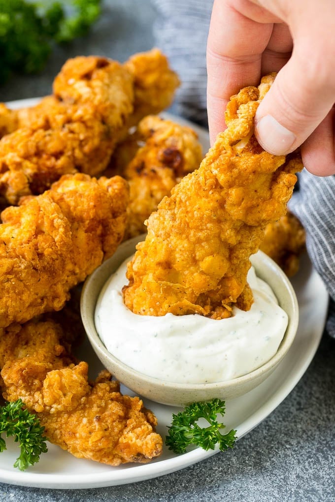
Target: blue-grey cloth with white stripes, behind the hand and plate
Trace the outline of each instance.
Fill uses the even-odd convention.
[[[156,44],[182,81],[173,111],[207,127],[206,41],[213,2],[152,2],[158,14],[154,25]],[[319,178],[304,169],[289,207],[306,230],[307,252],[328,290],[326,329],[335,338],[335,176]]]

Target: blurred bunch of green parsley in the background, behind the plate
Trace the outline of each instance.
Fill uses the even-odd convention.
[[[0,0],[0,83],[12,72],[41,71],[55,43],[86,35],[101,0]]]

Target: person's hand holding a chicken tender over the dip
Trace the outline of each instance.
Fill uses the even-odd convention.
[[[207,43],[211,143],[226,129],[231,95],[278,75],[255,117],[258,142],[274,155],[301,145],[308,171],[335,174],[335,2],[214,0]]]

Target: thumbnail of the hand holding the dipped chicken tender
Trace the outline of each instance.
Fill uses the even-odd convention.
[[[265,115],[255,127],[256,138],[261,147],[273,155],[289,153],[296,137],[284,128],[272,115]]]

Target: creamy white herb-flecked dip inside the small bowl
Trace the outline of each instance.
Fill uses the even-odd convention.
[[[288,316],[254,268],[248,274],[254,294],[248,312],[234,307],[233,317],[222,320],[154,317],[134,314],[123,302],[129,260],[107,281],[95,309],[99,337],[127,365],[166,382],[203,384],[247,374],[277,352]]]

